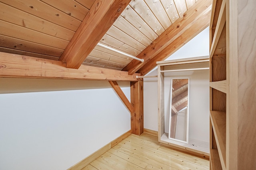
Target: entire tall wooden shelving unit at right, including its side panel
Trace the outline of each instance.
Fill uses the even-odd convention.
[[[212,2],[210,170],[256,169],[255,21],[254,1]]]

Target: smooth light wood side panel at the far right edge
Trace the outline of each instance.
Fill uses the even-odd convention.
[[[254,128],[256,121],[256,105],[254,104],[256,99],[256,3],[254,0],[237,0],[235,2],[238,3],[238,58],[234,56],[234,59],[232,59],[233,53],[231,53],[230,65],[232,65],[232,70],[236,64],[238,67],[236,73],[231,73],[232,70],[230,70],[230,79],[235,74],[238,75],[237,93],[234,91],[238,105],[236,106],[236,103],[231,105],[231,107],[238,110],[238,112],[235,112],[238,113],[238,169],[256,169],[254,161],[256,160],[254,144],[254,141],[256,141],[256,128]],[[230,39],[234,33],[230,34]],[[238,61],[235,61],[236,59]],[[234,78],[236,80],[236,77]],[[230,83],[232,82],[231,80]],[[230,88],[230,90],[232,89]]]

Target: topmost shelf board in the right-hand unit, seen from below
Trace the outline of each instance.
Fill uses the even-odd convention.
[[[220,7],[220,14],[218,16],[218,21],[216,25],[216,29],[214,31],[214,36],[212,39],[212,45],[210,49],[210,58],[213,56],[214,51],[217,47],[218,41],[220,39],[220,35],[222,33],[223,27],[226,23],[226,0],[222,0],[222,4]]]

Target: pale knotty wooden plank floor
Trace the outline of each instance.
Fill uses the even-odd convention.
[[[82,170],[208,170],[209,160],[158,143],[157,137],[130,135]]]

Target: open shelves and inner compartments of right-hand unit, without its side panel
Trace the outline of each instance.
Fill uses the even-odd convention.
[[[213,0],[210,22],[210,168],[226,170],[226,0]]]

